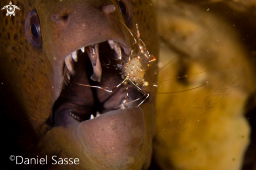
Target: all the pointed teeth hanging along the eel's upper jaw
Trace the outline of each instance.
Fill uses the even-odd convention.
[[[114,40],[108,40],[107,41],[110,48],[115,51],[116,53],[116,58],[118,60],[122,59],[122,53],[121,53],[121,45],[119,42],[116,42]],[[102,76],[102,67],[101,67],[101,62],[99,61],[99,51],[98,51],[98,46],[99,43],[96,44],[91,44],[90,46],[87,47],[82,47],[79,50],[81,50],[83,53],[86,51],[92,66],[93,66],[93,75],[91,76],[91,80],[93,81],[98,81],[101,82],[101,76]],[[66,66],[67,71],[64,71],[63,76],[67,78],[67,80],[64,80],[64,83],[70,82],[70,75],[75,75],[75,70],[74,70],[74,62],[77,62],[77,53],[78,50],[72,52],[68,56],[65,57],[64,63]],[[66,70],[64,69],[64,70]]]

